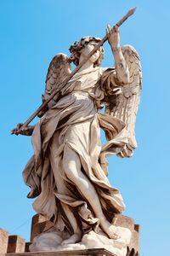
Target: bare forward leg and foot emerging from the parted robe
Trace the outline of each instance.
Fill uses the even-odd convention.
[[[95,216],[99,218],[99,224],[102,230],[104,230],[110,238],[116,239],[118,237],[116,234],[116,227],[105,218],[94,185],[81,171],[81,161],[78,154],[67,145],[64,150],[63,166],[65,175],[71,182],[75,183],[77,188],[82,192],[82,195],[93,208]]]

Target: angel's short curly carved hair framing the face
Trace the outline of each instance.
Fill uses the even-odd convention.
[[[79,64],[81,50],[87,44],[89,44],[90,42],[94,42],[95,44],[97,44],[97,43],[99,43],[99,41],[101,41],[101,39],[100,38],[95,38],[95,37],[83,37],[83,38],[81,38],[80,41],[76,41],[69,48],[69,50],[71,52],[71,57],[70,57],[71,61],[73,61],[73,63],[77,66]],[[100,51],[99,59],[94,62],[94,67],[99,67],[102,60],[104,59],[104,48],[103,48],[103,46],[101,46],[99,48],[99,51]]]

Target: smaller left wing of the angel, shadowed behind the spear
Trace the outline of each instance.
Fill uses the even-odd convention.
[[[48,99],[48,96],[57,89],[59,84],[61,84],[65,78],[71,73],[70,59],[65,54],[55,55],[53,60],[50,62],[48,67],[48,74],[46,77],[46,86],[44,96]],[[56,103],[58,95],[48,102],[48,107],[52,108]]]

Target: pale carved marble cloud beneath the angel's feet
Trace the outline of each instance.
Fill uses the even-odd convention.
[[[90,231],[82,236],[82,241],[74,244],[62,245],[64,238],[58,232],[42,233],[34,239],[30,246],[31,252],[51,252],[66,250],[82,250],[90,248],[105,248],[117,256],[126,256],[127,244],[130,242],[131,231],[122,227],[117,227],[120,238],[113,240],[105,236],[101,231],[99,234]]]

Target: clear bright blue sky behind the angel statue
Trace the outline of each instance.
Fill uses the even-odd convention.
[[[0,1],[1,177],[0,227],[29,240],[31,200],[21,172],[31,157],[30,137],[10,130],[41,102],[49,61],[85,35],[103,37],[128,9],[136,13],[121,28],[121,43],[141,57],[143,92],[133,158],[109,158],[110,180],[127,204],[125,215],[141,225],[141,256],[167,255],[170,241],[170,3],[156,1]],[[103,67],[113,58],[105,44]]]

